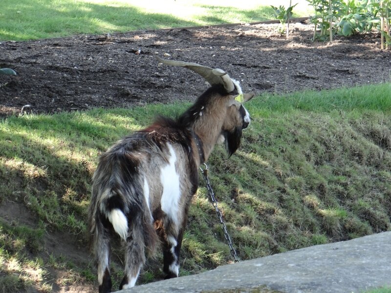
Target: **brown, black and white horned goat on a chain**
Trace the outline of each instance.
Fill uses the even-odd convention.
[[[250,123],[242,103],[254,94],[243,94],[239,82],[223,70],[157,59],[198,73],[211,87],[176,120],[159,117],[101,155],[92,178],[88,211],[100,293],[111,290],[109,242],[114,234],[125,243],[120,290],[135,285],[146,252],[152,253],[159,239],[166,278],[178,276],[179,251],[198,187],[198,168],[216,143],[225,142],[231,156],[239,147],[242,129]]]

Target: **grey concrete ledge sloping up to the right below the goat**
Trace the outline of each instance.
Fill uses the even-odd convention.
[[[391,286],[391,232],[312,246],[122,293],[359,293]]]

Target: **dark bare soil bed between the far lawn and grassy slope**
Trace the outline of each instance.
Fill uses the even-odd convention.
[[[193,100],[207,88],[190,71],[157,66],[153,55],[227,71],[245,91],[289,92],[389,82],[391,52],[368,33],[311,42],[312,26],[291,25],[285,40],[276,24],[172,29],[111,36],[1,42],[0,115],[131,107]],[[135,54],[141,49],[140,54]],[[167,55],[166,54],[166,55]]]

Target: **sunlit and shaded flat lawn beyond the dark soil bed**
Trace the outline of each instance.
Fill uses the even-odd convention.
[[[233,0],[1,0],[0,41],[273,19],[270,3]],[[281,3],[285,4],[282,0]],[[304,0],[295,16],[307,16]]]

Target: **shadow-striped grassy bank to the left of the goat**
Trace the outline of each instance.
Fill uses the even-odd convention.
[[[130,131],[121,114],[91,126],[97,115],[26,115],[2,122],[0,246],[21,264],[39,261],[55,292],[64,274],[91,286],[83,279],[95,276],[87,235],[90,180],[99,151]],[[62,255],[62,264],[52,263]],[[40,291],[45,281],[32,286]]]

